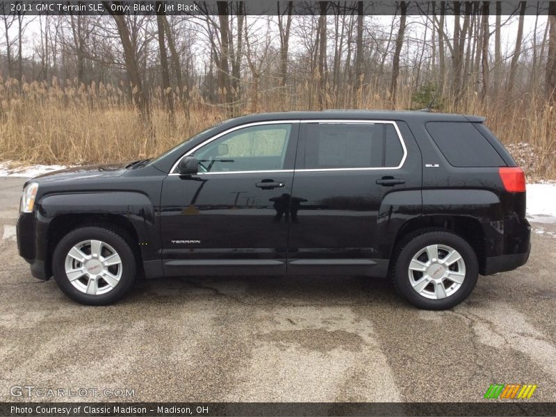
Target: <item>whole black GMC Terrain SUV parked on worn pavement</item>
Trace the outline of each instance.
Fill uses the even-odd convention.
[[[83,304],[136,276],[391,277],[448,309],[530,252],[525,177],[477,116],[266,113],[153,160],[25,183],[19,254]]]

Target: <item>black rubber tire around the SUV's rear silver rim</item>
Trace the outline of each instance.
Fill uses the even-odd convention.
[[[464,273],[463,268],[461,267],[461,263],[457,263],[455,266],[450,267],[453,268],[455,272],[458,272],[458,268],[461,268],[461,271],[459,272],[462,276],[464,276],[464,279],[461,284],[459,284],[460,286],[457,289],[455,289],[458,285],[457,282],[452,282],[449,279],[447,281],[444,281],[445,284],[443,285],[450,285],[450,287],[448,287],[448,291],[451,290],[453,291],[453,293],[444,298],[438,298],[435,300],[427,298],[425,295],[422,294],[425,293],[433,296],[432,293],[436,293],[436,285],[438,284],[434,284],[434,282],[431,282],[430,284],[427,284],[425,288],[423,288],[423,293],[418,293],[416,290],[414,290],[414,287],[412,286],[410,280],[411,275],[411,279],[414,279],[415,284],[418,281],[419,277],[423,277],[424,275],[427,275],[427,277],[429,277],[428,272],[430,272],[430,270],[434,270],[434,268],[431,267],[431,269],[427,270],[427,272],[414,272],[413,270],[409,270],[409,264],[411,263],[413,257],[430,245],[442,245],[444,247],[455,249],[461,255],[461,260],[464,263],[463,268],[465,268]],[[443,256],[448,256],[447,253],[447,251],[440,249],[438,259],[443,259],[443,254]],[[426,261],[428,262],[428,252],[425,251],[425,254],[423,255],[425,256],[424,259],[426,259]],[[402,297],[404,297],[406,300],[411,302],[411,304],[414,304],[414,306],[417,306],[420,309],[451,309],[452,307],[457,306],[457,304],[459,304],[460,302],[464,301],[468,297],[468,295],[471,294],[473,288],[475,288],[475,284],[477,284],[477,277],[479,275],[479,263],[477,261],[477,255],[475,254],[473,247],[471,247],[471,245],[469,245],[469,243],[464,238],[461,238],[461,236],[458,236],[457,234],[454,234],[450,231],[443,231],[438,229],[423,229],[421,231],[417,231],[414,234],[411,234],[410,236],[407,236],[407,238],[404,238],[402,242],[400,242],[400,245],[398,245],[397,250],[395,251],[394,260],[395,265],[391,270],[391,279],[396,290],[398,291],[398,293],[400,293],[400,295],[402,295]],[[438,270],[438,268],[436,269]],[[442,276],[442,272],[445,270],[446,268],[439,271],[439,273],[441,274],[440,277]],[[452,271],[450,270],[447,272]],[[436,273],[436,271],[433,272],[433,274],[434,273]],[[442,292],[443,290],[440,289],[440,293]]]

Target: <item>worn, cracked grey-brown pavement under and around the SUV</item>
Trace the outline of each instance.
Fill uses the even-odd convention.
[[[556,235],[533,234],[526,265],[480,277],[452,311],[354,277],[139,281],[88,307],[17,256],[23,182],[0,179],[0,401],[32,385],[135,389],[134,401],[476,402],[494,383],[556,400]]]

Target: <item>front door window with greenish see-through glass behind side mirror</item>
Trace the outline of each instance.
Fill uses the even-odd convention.
[[[265,124],[239,129],[213,140],[194,155],[199,172],[281,170],[291,124]]]

